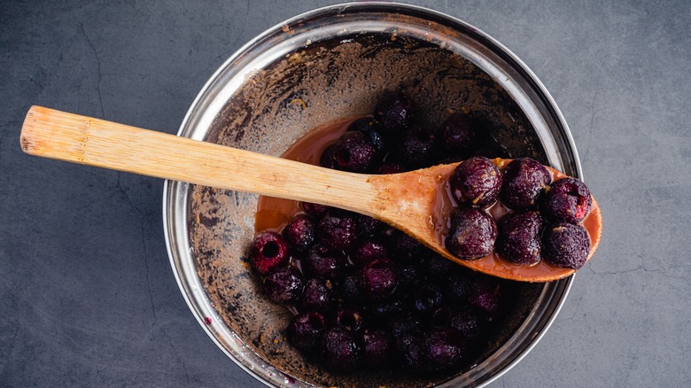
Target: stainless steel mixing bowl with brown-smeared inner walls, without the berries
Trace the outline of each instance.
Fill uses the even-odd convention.
[[[178,135],[280,155],[311,128],[370,113],[386,89],[412,90],[439,125],[481,113],[511,157],[582,177],[569,129],[537,77],[501,43],[459,19],[405,4],[340,4],[286,20],[245,44],[206,82]],[[276,386],[477,386],[516,365],[555,319],[573,277],[517,284],[505,329],[473,368],[427,378],[332,376],[283,340],[289,319],[246,266],[257,197],[166,182],[164,225],[182,295],[232,361]]]

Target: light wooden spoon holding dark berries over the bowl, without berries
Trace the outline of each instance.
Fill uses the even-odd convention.
[[[493,255],[467,261],[446,252],[440,237],[451,206],[444,199],[445,184],[458,163],[395,175],[353,174],[40,106],[27,113],[20,141],[23,151],[45,158],[364,213],[488,275],[547,282],[575,272],[551,267],[544,260],[519,266]],[[602,215],[595,201],[585,224],[592,242],[590,260],[602,234]]]

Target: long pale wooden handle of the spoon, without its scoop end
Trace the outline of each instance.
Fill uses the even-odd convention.
[[[32,106],[21,129],[28,154],[219,189],[371,213],[369,175]]]

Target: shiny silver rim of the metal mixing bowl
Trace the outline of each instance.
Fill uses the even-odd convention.
[[[226,59],[221,66],[219,66],[214,74],[210,76],[210,78],[206,81],[205,85],[202,87],[202,89],[199,90],[197,97],[192,101],[190,108],[188,109],[187,113],[185,114],[184,118],[182,119],[180,128],[177,131],[177,136],[187,136],[191,138],[195,138],[193,134],[189,133],[189,124],[190,120],[192,120],[193,116],[198,114],[198,108],[200,105],[200,102],[202,102],[205,97],[210,93],[210,91],[214,88],[214,83],[218,81],[219,77],[221,74],[223,74],[230,64],[232,64],[237,58],[241,57],[246,51],[251,49],[253,46],[255,46],[257,43],[260,43],[263,39],[267,38],[270,35],[276,34],[277,31],[280,31],[284,26],[291,26],[296,24],[297,22],[305,19],[313,19],[318,16],[323,16],[323,15],[328,15],[333,12],[341,13],[341,12],[346,12],[350,11],[351,9],[357,11],[358,9],[369,9],[369,10],[380,10],[381,12],[384,11],[392,11],[393,9],[397,10],[404,10],[406,12],[411,12],[411,13],[419,13],[427,17],[431,18],[436,18],[436,19],[441,19],[445,20],[446,23],[453,24],[454,27],[458,29],[468,29],[472,31],[473,37],[478,38],[479,40],[483,41],[485,45],[489,45],[490,47],[493,47],[496,53],[501,54],[502,58],[509,61],[511,66],[516,69],[516,71],[522,72],[522,78],[525,81],[529,81],[532,87],[532,91],[536,92],[542,101],[545,103],[545,106],[549,110],[549,114],[552,116],[552,118],[559,124],[561,133],[560,135],[563,136],[563,142],[566,145],[566,151],[571,152],[570,160],[572,163],[572,167],[575,170],[574,175],[576,177],[583,179],[583,173],[582,173],[582,167],[580,164],[580,159],[578,158],[578,151],[576,149],[575,142],[573,141],[573,137],[571,136],[571,130],[568,127],[568,124],[566,123],[566,120],[563,117],[563,114],[557,107],[554,98],[549,94],[547,91],[547,88],[545,88],[544,84],[538,79],[538,77],[532,72],[532,70],[524,64],[524,62],[516,56],[511,50],[509,50],[506,46],[504,46],[502,43],[494,39],[492,36],[487,35],[485,32],[482,30],[478,29],[477,27],[474,27],[470,25],[469,23],[463,21],[462,19],[458,19],[454,16],[448,15],[443,12],[438,12],[431,10],[429,8],[415,5],[415,4],[400,4],[400,3],[393,3],[393,2],[380,2],[380,1],[375,1],[375,2],[362,2],[362,3],[343,3],[343,4],[332,4],[332,5],[327,5],[323,6],[320,8],[316,8],[311,11],[307,12],[302,12],[299,15],[296,15],[290,19],[285,19],[276,25],[269,27],[266,29],[264,32],[262,32],[260,35],[256,35],[253,37],[249,42],[245,43],[242,45],[239,49],[237,49],[228,59]],[[203,139],[197,139],[197,140],[203,140]],[[166,247],[167,247],[167,253],[168,253],[168,258],[171,263],[171,269],[173,271],[173,274],[175,275],[175,282],[178,285],[178,288],[180,289],[182,293],[182,297],[187,303],[187,306],[190,308],[191,313],[195,316],[198,324],[202,327],[202,329],[206,332],[206,335],[212,339],[215,345],[217,345],[223,353],[225,353],[229,359],[233,362],[236,363],[238,367],[241,369],[244,369],[246,373],[248,373],[250,376],[253,376],[255,379],[260,381],[263,384],[266,384],[268,386],[274,386],[274,383],[276,383],[277,379],[284,379],[283,377],[286,376],[277,376],[274,371],[277,372],[278,375],[283,375],[282,372],[278,371],[278,369],[274,369],[273,371],[269,371],[269,373],[266,373],[266,369],[261,369],[261,373],[257,371],[257,369],[251,369],[248,368],[243,362],[237,359],[237,354],[229,352],[229,349],[227,349],[219,340],[217,337],[216,333],[214,332],[215,330],[213,329],[213,326],[208,324],[206,322],[207,318],[211,318],[212,321],[215,319],[217,322],[222,322],[221,318],[219,315],[215,314],[215,310],[213,307],[213,304],[211,303],[210,299],[208,299],[206,295],[206,291],[203,289],[198,289],[198,287],[194,285],[190,285],[189,283],[185,282],[185,279],[183,279],[182,276],[182,268],[180,266],[180,255],[182,254],[185,257],[185,260],[192,261],[194,262],[194,259],[192,258],[192,254],[190,252],[190,249],[185,250],[184,252],[180,250],[180,239],[178,237],[182,237],[182,241],[184,240],[184,236],[181,236],[181,231],[177,230],[177,233],[175,232],[175,224],[176,220],[187,220],[187,208],[186,206],[182,207],[175,207],[176,200],[181,197],[181,192],[182,192],[182,197],[186,198],[186,192],[188,189],[189,185],[188,183],[184,182],[175,182],[175,181],[169,181],[166,180],[163,185],[163,201],[162,201],[162,213],[163,213],[163,229],[164,229],[164,237],[166,241]],[[175,215],[177,214],[177,215]],[[184,230],[186,231],[186,229]],[[183,244],[186,245],[187,247],[190,246],[189,241],[187,241],[188,244]],[[561,308],[563,307],[563,304],[569,294],[569,291],[571,290],[571,285],[575,279],[575,275],[571,275],[565,279],[552,282],[552,283],[546,283],[545,287],[543,290],[540,292],[540,299],[543,298],[549,298],[551,300],[551,304],[547,307],[551,308],[552,314],[550,314],[546,320],[542,320],[538,323],[540,323],[537,331],[533,332],[532,340],[527,346],[524,346],[519,350],[519,352],[516,354],[516,356],[506,365],[504,365],[497,373],[495,373],[493,376],[489,376],[489,378],[485,379],[484,381],[480,382],[479,385],[477,386],[485,386],[487,384],[491,384],[493,381],[495,381],[497,378],[500,376],[504,375],[506,372],[509,371],[509,369],[512,369],[518,362],[523,360],[525,355],[530,353],[532,349],[534,348],[535,345],[540,342],[540,339],[544,337],[546,334],[548,328],[552,325],[552,323],[555,321],[556,316],[559,314]],[[554,285],[553,287],[550,287],[551,285]],[[198,300],[193,300],[192,295],[196,296],[196,299],[201,299],[206,301],[206,306],[204,304],[198,303]],[[556,299],[556,303],[554,303],[554,300]],[[536,312],[534,311],[535,307],[532,308],[531,313],[529,314],[529,317],[535,314]],[[529,318],[525,319],[525,322],[528,322]],[[520,331],[521,329],[524,328],[525,322],[516,330],[516,333]],[[511,338],[516,336],[516,333],[514,333]],[[238,338],[239,339],[239,338]],[[510,338],[509,338],[510,340]],[[509,342],[509,340],[507,342]],[[506,344],[505,344],[506,345]],[[499,352],[505,345],[502,345],[499,349],[497,349],[496,352]],[[495,353],[496,353],[495,352]],[[492,357],[490,357],[492,358]],[[488,359],[489,360],[489,359]],[[485,360],[487,361],[487,360]],[[267,365],[268,369],[273,369],[270,365]],[[292,384],[293,382],[289,381],[288,379],[285,379],[286,383],[291,383],[293,386],[298,386],[295,384]],[[450,381],[446,381],[440,386],[448,386],[449,384],[453,384],[454,381],[453,379]]]

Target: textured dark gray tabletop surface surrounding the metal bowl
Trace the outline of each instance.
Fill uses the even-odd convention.
[[[175,285],[162,182],[26,156],[19,128],[45,105],[175,133],[232,52],[330,3],[0,5],[0,385],[260,386]],[[532,68],[603,209],[601,248],[561,314],[495,384],[691,385],[689,3],[414,3]]]

